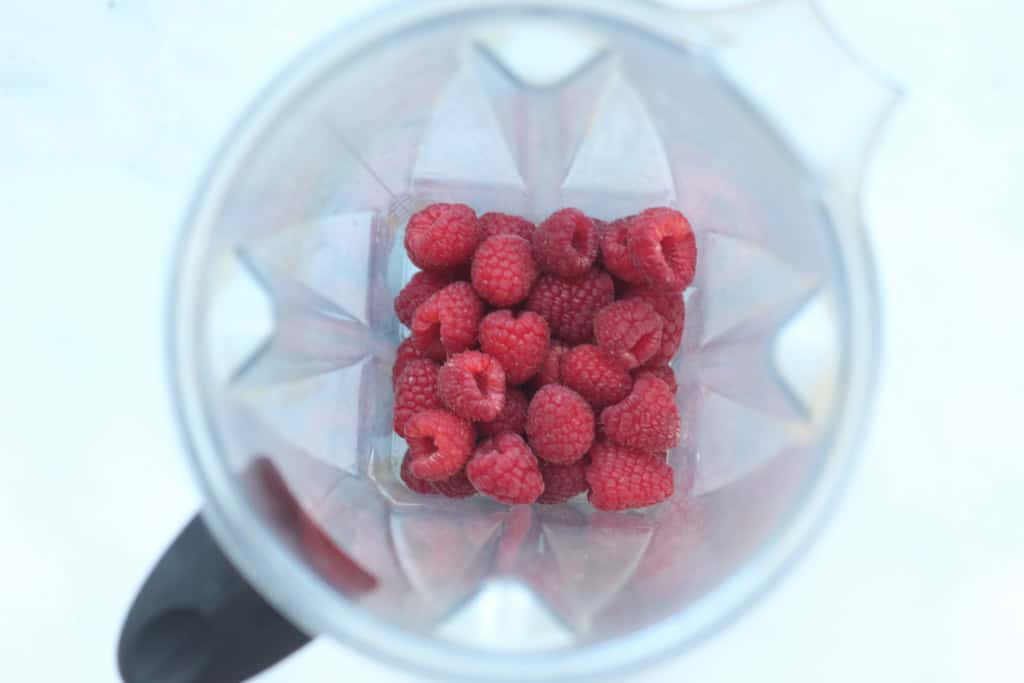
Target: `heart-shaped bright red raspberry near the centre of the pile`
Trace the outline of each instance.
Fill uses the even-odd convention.
[[[509,384],[522,384],[536,375],[550,343],[548,323],[532,311],[516,316],[496,310],[480,322],[480,349],[498,358]]]

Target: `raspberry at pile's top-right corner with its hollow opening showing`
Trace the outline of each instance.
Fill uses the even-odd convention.
[[[647,209],[629,219],[629,250],[643,281],[682,292],[693,282],[697,243],[693,228],[675,209]]]

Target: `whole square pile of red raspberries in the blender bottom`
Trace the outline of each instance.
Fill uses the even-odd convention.
[[[414,492],[600,510],[673,494],[682,292],[696,243],[670,208],[534,223],[433,204],[410,218],[421,268],[395,297],[411,336],[392,371]]]

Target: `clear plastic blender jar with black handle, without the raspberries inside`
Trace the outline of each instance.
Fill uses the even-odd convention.
[[[858,193],[894,101],[806,0],[404,3],[309,50],[221,150],[182,237],[169,349],[216,543],[196,521],[161,562],[125,677],[243,678],[324,634],[449,680],[587,679],[740,612],[820,525],[863,426],[878,314]],[[604,513],[402,485],[391,301],[414,272],[404,223],[432,202],[689,217],[672,500]]]

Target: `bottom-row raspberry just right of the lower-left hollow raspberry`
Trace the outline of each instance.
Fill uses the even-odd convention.
[[[544,492],[537,458],[522,437],[511,432],[478,445],[466,474],[476,490],[509,505],[528,505]]]

